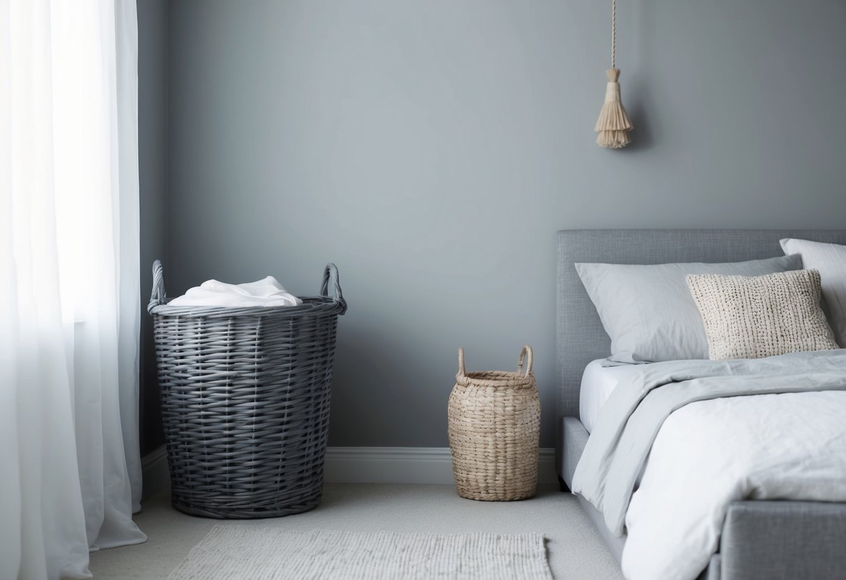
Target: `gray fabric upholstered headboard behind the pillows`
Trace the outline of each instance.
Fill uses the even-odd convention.
[[[610,354],[576,262],[739,262],[783,255],[778,240],[846,244],[846,230],[563,230],[558,232],[558,416],[579,416],[585,365]]]

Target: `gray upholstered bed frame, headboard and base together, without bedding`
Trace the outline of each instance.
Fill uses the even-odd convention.
[[[846,230],[565,230],[558,233],[556,468],[563,490],[569,490],[573,483],[589,437],[580,420],[580,386],[585,367],[610,352],[610,339],[574,264],[758,260],[783,254],[781,238],[846,244]],[[602,514],[578,497],[619,561],[625,535],[615,536]],[[711,555],[700,578],[846,578],[844,540],[846,504],[736,501],[728,506],[719,548]]]

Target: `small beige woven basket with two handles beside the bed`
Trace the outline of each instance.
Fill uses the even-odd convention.
[[[523,347],[515,373],[468,373],[459,348],[455,380],[448,407],[449,449],[459,495],[484,501],[535,495],[541,401],[531,347]]]

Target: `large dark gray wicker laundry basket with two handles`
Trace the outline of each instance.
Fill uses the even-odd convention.
[[[328,293],[330,282],[333,295]],[[153,264],[162,423],[173,506],[196,516],[279,517],[323,487],[338,315],[338,269],[301,306],[168,306]]]

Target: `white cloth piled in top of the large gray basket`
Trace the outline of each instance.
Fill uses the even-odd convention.
[[[223,306],[243,308],[250,306],[299,306],[303,301],[285,292],[285,288],[273,276],[245,284],[227,284],[208,280],[200,286],[190,288],[179,298],[173,298],[171,306]]]

